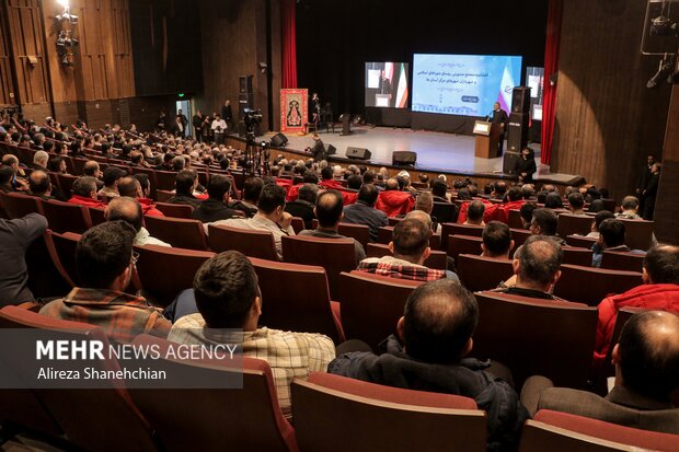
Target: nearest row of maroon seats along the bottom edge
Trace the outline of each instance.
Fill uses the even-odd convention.
[[[46,328],[70,340],[108,341],[97,327],[58,321],[15,306],[0,311],[0,327]],[[137,358],[131,367],[177,372],[193,382],[242,378],[242,390],[172,389],[112,380],[107,387],[82,391],[0,391],[0,417],[47,437],[92,451],[185,451],[230,449],[271,451],[464,450],[486,448],[485,413],[473,399],[387,387],[325,373],[291,384],[295,427],[278,407],[265,361],[242,358],[242,368],[219,360],[176,360],[176,345],[138,336],[135,346],[158,347],[160,360]],[[3,354],[5,369],[21,380],[20,359]],[[119,370],[115,358],[96,360],[96,370]],[[128,383],[128,384],[126,384]],[[186,416],[191,413],[191,416]],[[106,428],[101,428],[105,425]],[[671,451],[679,436],[636,430],[579,416],[541,410],[522,429],[519,451]]]

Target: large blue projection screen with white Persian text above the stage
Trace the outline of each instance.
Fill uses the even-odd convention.
[[[511,106],[521,83],[521,57],[415,54],[413,112],[486,116],[499,102]]]

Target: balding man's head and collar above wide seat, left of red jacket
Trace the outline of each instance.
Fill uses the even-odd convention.
[[[551,291],[561,277],[564,253],[552,237],[529,236],[514,254],[514,276],[500,283],[497,292],[555,300]]]

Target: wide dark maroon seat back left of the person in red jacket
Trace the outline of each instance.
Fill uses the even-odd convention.
[[[480,321],[471,356],[507,366],[515,387],[521,387],[531,375],[544,375],[556,386],[586,385],[597,328],[596,308],[497,292],[475,297]]]

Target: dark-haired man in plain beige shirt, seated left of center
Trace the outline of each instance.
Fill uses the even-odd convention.
[[[274,235],[278,258],[283,259],[280,237],[284,235],[295,235],[295,230],[290,225],[292,216],[284,211],[284,208],[285,188],[275,184],[267,184],[262,187],[262,193],[257,200],[257,212],[254,217],[231,218],[229,220],[216,221],[214,224],[271,232]]]

